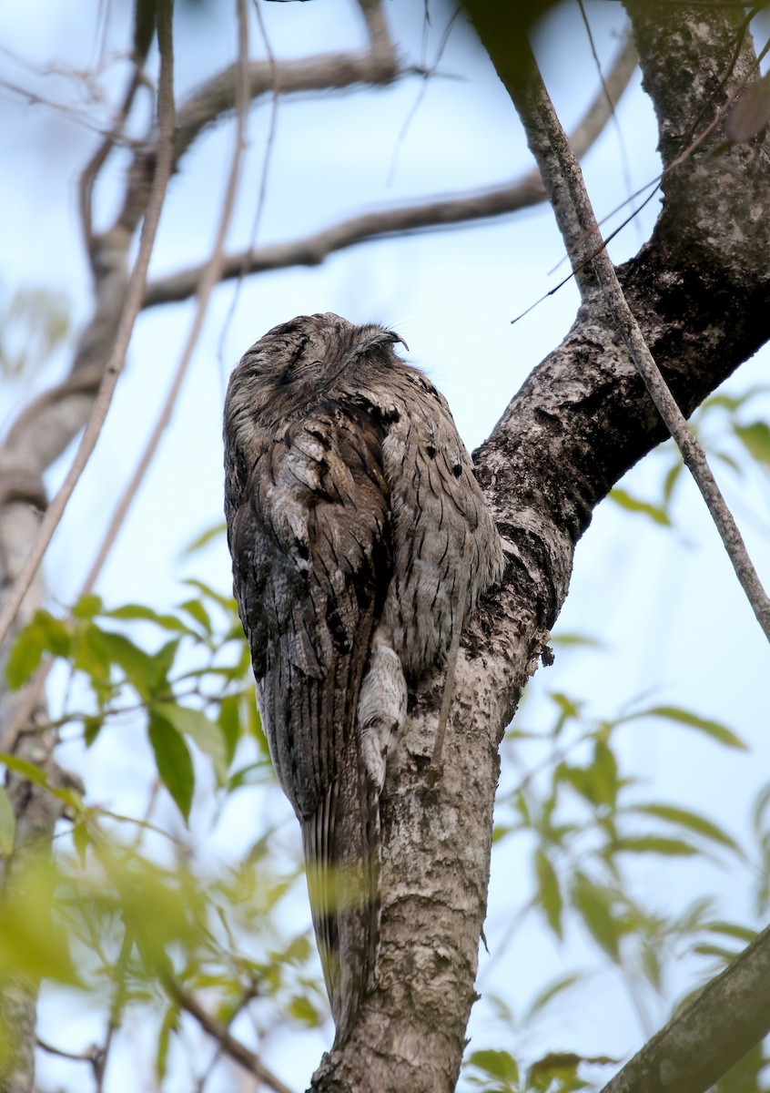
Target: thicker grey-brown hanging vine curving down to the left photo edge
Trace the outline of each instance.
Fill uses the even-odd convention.
[[[2,642],[16,618],[16,612],[32,585],[43,556],[64,513],[72,492],[83,473],[88,459],[96,446],[102,432],[115,388],[122,372],[126,353],[131,340],[131,332],[144,297],[147,267],[157,232],[161,210],[166,193],[166,185],[170,177],[174,161],[174,49],[171,33],[171,12],[174,0],[161,0],[157,11],[157,37],[161,51],[161,74],[158,80],[158,141],[155,174],[152,191],[147,202],[139,254],[131,271],[126,303],[120,316],[120,322],[115,336],[115,348],[105,367],[104,377],[94,400],[88,423],[81,438],[78,451],[67,478],[52,498],[40,520],[40,527],[29,554],[16,579],[9,590],[8,598],[0,612],[0,642]]]

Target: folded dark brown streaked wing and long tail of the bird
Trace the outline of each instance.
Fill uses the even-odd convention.
[[[378,791],[356,710],[391,573],[382,439],[366,410],[329,402],[263,437],[240,483],[227,475],[235,595],[275,771],[303,825],[337,1038],[377,945]]]

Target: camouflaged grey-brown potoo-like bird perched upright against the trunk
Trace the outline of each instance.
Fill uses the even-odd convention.
[[[303,831],[335,1045],[376,982],[379,801],[410,689],[504,564],[447,400],[396,344],[300,315],[247,350],[225,399],[234,595]]]

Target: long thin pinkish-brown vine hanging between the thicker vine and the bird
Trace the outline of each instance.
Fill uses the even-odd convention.
[[[112,519],[110,520],[109,527],[107,528],[102,545],[99,546],[91,569],[83,581],[80,596],[87,596],[94,587],[96,578],[107,561],[107,556],[112,549],[112,544],[115,543],[118,532],[123,525],[126,516],[134,502],[142,482],[144,481],[147,469],[155,457],[155,453],[161,444],[163,434],[171,420],[174,408],[179,397],[179,391],[182,383],[185,381],[190,360],[192,359],[192,353],[198,344],[198,339],[209,309],[212,293],[222,278],[225,238],[227,236],[227,230],[233,218],[233,210],[238,195],[238,183],[240,178],[240,168],[244,158],[246,140],[246,115],[249,102],[249,87],[246,77],[249,59],[248,21],[246,19],[246,10],[242,0],[239,0],[238,2],[238,71],[240,75],[238,79],[237,90],[237,126],[235,148],[233,150],[233,160],[227,179],[227,188],[225,190],[225,197],[222,204],[222,212],[220,214],[220,223],[217,225],[216,236],[214,239],[214,247],[209,261],[201,270],[201,275],[198,281],[198,290],[196,293],[198,297],[198,306],[196,308],[196,314],[190,326],[190,331],[187,336],[187,341],[185,342],[185,348],[179,357],[174,379],[171,380],[165,402],[161,413],[158,414],[157,421],[155,422],[155,427],[152,431],[131,480],[126,486],[126,490],[123,491],[123,494],[112,513]]]

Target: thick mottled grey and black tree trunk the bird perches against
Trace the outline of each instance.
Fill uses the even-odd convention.
[[[734,60],[741,11],[627,7],[667,166],[749,73],[751,46],[745,42]],[[478,0],[469,9],[495,57],[505,40],[499,5]],[[713,155],[723,141],[718,126],[665,176],[653,236],[619,270],[686,413],[770,336],[766,134]],[[437,785],[426,767],[438,678],[412,710],[383,801],[379,989],[313,1089],[454,1088],[474,998],[497,745],[564,602],[594,506],[664,436],[603,301],[589,294],[562,344],[476,454],[508,548],[504,590],[484,604],[461,653]]]

